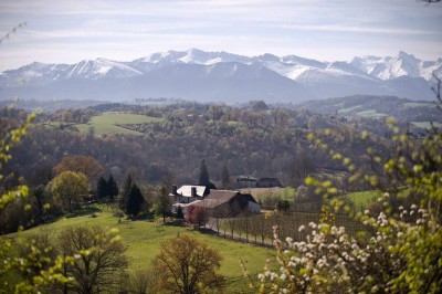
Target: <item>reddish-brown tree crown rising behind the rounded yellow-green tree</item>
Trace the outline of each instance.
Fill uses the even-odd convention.
[[[54,167],[55,175],[67,170],[84,174],[91,185],[97,182],[98,178],[104,174],[102,164],[94,157],[84,155],[64,156],[60,164]]]

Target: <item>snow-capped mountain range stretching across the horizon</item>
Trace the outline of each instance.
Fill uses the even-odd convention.
[[[198,49],[154,53],[130,62],[106,59],[76,64],[33,62],[0,73],[0,99],[175,97],[199,102],[293,102],[347,95],[433,99],[432,74],[442,59],[412,54],[322,62],[296,55],[244,56]]]

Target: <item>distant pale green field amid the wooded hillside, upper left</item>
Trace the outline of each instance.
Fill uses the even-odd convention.
[[[92,117],[87,124],[76,124],[73,125],[73,127],[76,127],[81,134],[86,134],[88,129],[93,127],[96,136],[115,134],[140,136],[143,133],[119,127],[117,125],[134,125],[158,122],[162,122],[162,118],[127,113],[104,113],[102,115]],[[61,124],[61,122],[52,122],[49,125],[53,127],[60,127]]]

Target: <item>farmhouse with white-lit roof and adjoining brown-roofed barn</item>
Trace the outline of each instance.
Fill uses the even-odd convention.
[[[214,190],[204,186],[182,186],[177,189],[173,186],[170,196],[175,198],[173,208],[181,207],[185,214],[190,206],[202,207],[210,217],[217,218],[235,217],[246,211],[252,213],[261,211],[261,206],[253,196],[239,191]]]

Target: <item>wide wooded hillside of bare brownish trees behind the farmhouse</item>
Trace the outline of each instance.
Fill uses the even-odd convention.
[[[241,107],[197,103],[161,107],[120,104],[113,107],[109,104],[75,112],[40,114],[36,122],[77,122],[96,114],[96,109],[131,109],[165,119],[161,123],[126,126],[141,132],[144,136],[106,138],[95,137],[93,132],[82,135],[36,124],[14,149],[8,169],[34,185],[35,178],[44,174],[42,169],[51,169],[64,155],[80,154],[97,159],[119,181],[131,174],[137,181],[158,183],[165,174],[172,172],[176,183],[181,185],[193,183],[199,162],[204,158],[215,182],[221,180],[222,169],[228,166],[232,177],[276,177],[285,186],[298,186],[309,174],[324,169],[330,172],[345,170],[312,145],[306,138],[312,130],[337,129],[338,138],[329,144],[360,160],[364,160],[361,155],[369,145],[380,150],[388,148],[381,137],[359,141],[357,120],[348,123],[341,117],[271,107],[264,102]],[[22,115],[19,113],[2,109],[2,126],[9,120],[20,119]]]

